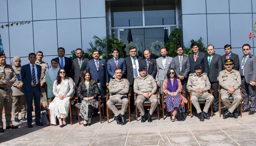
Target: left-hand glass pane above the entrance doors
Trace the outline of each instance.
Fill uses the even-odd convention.
[[[111,7],[111,27],[143,26],[142,7]]]

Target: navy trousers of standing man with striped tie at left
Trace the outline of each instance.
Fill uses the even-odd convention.
[[[40,122],[40,87],[31,87],[29,93],[25,93],[26,103],[27,103],[27,124],[32,123],[32,103],[34,96],[34,105],[35,105],[35,122]]]

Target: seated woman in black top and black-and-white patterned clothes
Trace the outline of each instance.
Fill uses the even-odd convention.
[[[93,115],[93,109],[99,106],[98,96],[99,87],[97,82],[91,78],[91,73],[89,70],[84,70],[82,73],[82,82],[80,82],[78,87],[78,96],[80,97],[82,103],[76,107],[80,108],[79,116],[81,116],[83,121],[83,126],[91,125],[91,116]]]

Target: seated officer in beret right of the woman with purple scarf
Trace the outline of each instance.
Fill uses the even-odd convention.
[[[207,73],[202,73],[202,66],[200,64],[195,65],[195,73],[189,74],[187,89],[191,91],[191,102],[196,108],[197,114],[200,114],[200,121],[210,119],[210,117],[206,115],[214,99],[214,97],[208,93],[210,88],[211,83],[207,77]],[[203,111],[198,103],[199,97],[206,100]]]

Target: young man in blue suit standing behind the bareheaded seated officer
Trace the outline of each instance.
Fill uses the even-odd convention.
[[[112,55],[113,55],[113,58],[108,59],[108,64],[107,64],[108,74],[109,74],[110,79],[116,78],[114,71],[117,68],[120,68],[123,70],[122,72],[123,72],[123,76],[124,76],[125,72],[126,72],[126,63],[125,63],[124,58],[118,57],[119,51],[117,48],[112,49]]]

